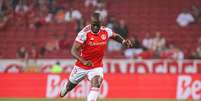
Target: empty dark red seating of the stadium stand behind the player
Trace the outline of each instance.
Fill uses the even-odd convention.
[[[31,0],[27,2],[30,8],[31,3]],[[137,33],[139,39],[142,40],[147,32],[155,33],[159,31],[166,38],[167,43],[173,43],[181,48],[185,53],[185,57],[188,58],[197,46],[195,44],[197,39],[201,37],[201,25],[197,23],[182,28],[176,24],[176,17],[182,9],[191,8],[194,3],[201,6],[199,0],[108,0],[106,9],[108,10],[108,16],[125,20],[129,29],[129,36]],[[70,7],[77,8],[86,21],[89,21],[89,16],[93,11],[93,8],[85,7],[84,0],[73,0],[71,2],[58,0],[57,5],[65,10],[69,10]],[[53,34],[62,36],[66,33],[68,48],[76,37],[75,21],[47,23],[40,20],[40,27],[34,29],[26,25],[28,21],[33,19],[22,18],[23,21],[15,21],[19,16],[16,16],[12,11],[6,17],[9,21],[0,30],[0,53],[2,58],[16,58],[16,51],[19,46],[30,49],[33,42],[38,47],[43,47]],[[25,25],[20,25],[20,23]],[[108,53],[106,57],[123,57],[121,52],[114,52],[114,54],[116,55],[111,56]],[[41,58],[58,57],[72,58],[69,49],[47,52]]]

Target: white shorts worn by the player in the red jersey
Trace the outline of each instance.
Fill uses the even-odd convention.
[[[85,77],[87,77],[88,80],[91,81],[91,79],[94,76],[100,76],[103,78],[103,68],[98,67],[98,68],[94,68],[94,69],[85,70],[78,66],[74,66],[74,68],[70,74],[69,80],[74,84],[78,84]]]

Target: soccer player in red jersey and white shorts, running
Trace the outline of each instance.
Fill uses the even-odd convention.
[[[65,82],[61,88],[61,97],[64,97],[80,81],[87,77],[91,83],[87,101],[96,101],[103,81],[102,59],[109,38],[122,43],[125,47],[132,47],[130,40],[126,40],[119,34],[112,32],[111,29],[101,26],[99,13],[93,13],[91,24],[78,33],[73,43],[71,54],[77,61],[68,82]]]

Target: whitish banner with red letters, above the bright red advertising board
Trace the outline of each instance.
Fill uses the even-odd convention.
[[[73,59],[39,59],[28,62],[7,59],[0,60],[0,72],[16,73],[32,65],[42,73],[50,73],[52,66],[59,62],[63,72],[70,73],[75,60]],[[201,73],[201,60],[129,60],[129,59],[104,59],[105,73],[122,74],[197,74]]]

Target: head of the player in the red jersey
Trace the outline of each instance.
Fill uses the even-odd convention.
[[[91,30],[93,33],[98,33],[101,27],[100,14],[93,13],[91,16]]]

